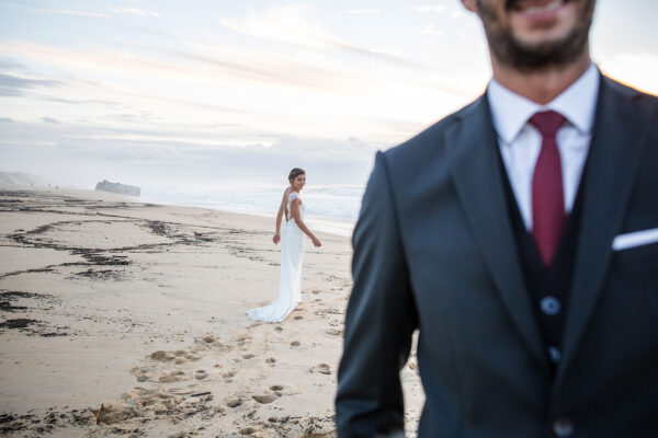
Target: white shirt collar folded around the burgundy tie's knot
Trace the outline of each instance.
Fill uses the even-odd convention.
[[[487,88],[487,97],[494,128],[503,142],[511,143],[533,114],[553,110],[565,116],[581,134],[590,132],[594,124],[600,80],[599,69],[591,64],[585,73],[557,97],[546,105],[540,105],[491,79]]]

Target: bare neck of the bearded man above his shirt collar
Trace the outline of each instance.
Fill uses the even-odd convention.
[[[569,88],[591,65],[589,48],[582,56],[567,66],[549,68],[536,72],[522,72],[500,64],[491,55],[494,78],[504,88],[523,97],[545,105]]]

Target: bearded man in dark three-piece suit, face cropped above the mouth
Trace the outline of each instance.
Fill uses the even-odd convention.
[[[487,92],[377,153],[354,230],[340,437],[658,437],[658,100],[599,72],[595,0],[462,0]]]

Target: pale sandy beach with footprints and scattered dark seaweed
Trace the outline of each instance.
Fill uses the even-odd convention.
[[[0,192],[0,218],[2,435],[336,435],[349,238],[307,240],[302,310],[261,324],[273,218],[83,191]],[[413,431],[413,357],[401,377]]]

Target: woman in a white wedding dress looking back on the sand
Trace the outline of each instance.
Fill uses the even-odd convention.
[[[313,244],[321,246],[320,241],[304,223],[306,207],[302,203],[299,192],[306,184],[306,173],[302,169],[293,169],[288,175],[291,186],[283,193],[283,199],[276,215],[276,232],[272,241],[281,242],[281,280],[279,297],[270,306],[251,309],[247,315],[263,322],[281,322],[302,302],[302,260],[304,258],[304,234]],[[281,222],[285,217],[283,235]]]

